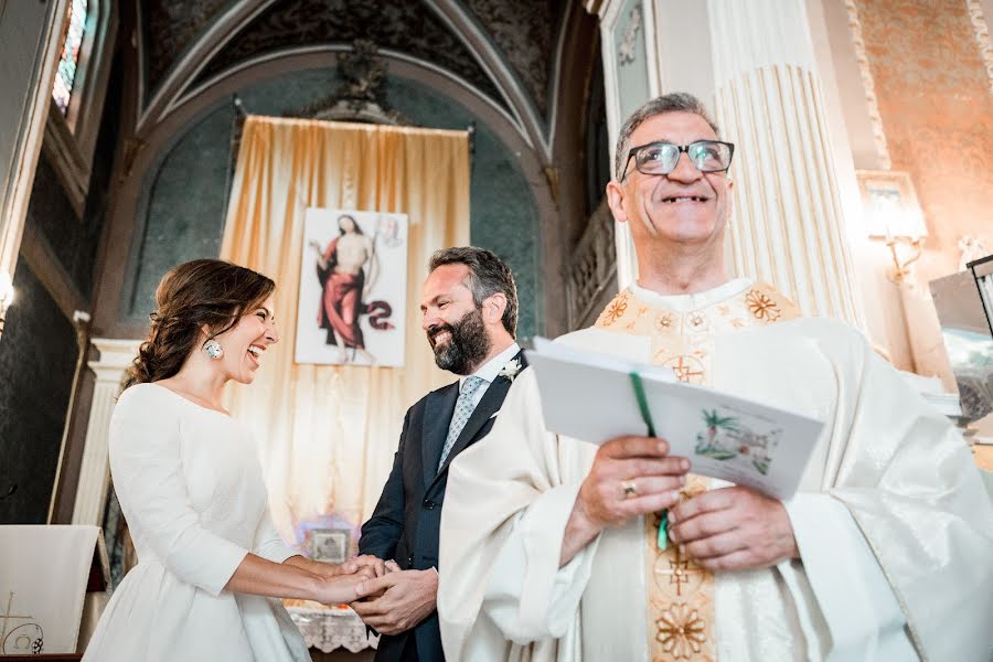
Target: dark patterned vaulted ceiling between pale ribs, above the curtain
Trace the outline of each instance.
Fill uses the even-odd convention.
[[[139,1],[149,92],[210,23],[236,4],[236,0]],[[460,0],[543,116],[566,1]],[[223,46],[199,81],[287,46],[348,44],[355,39],[371,39],[381,49],[444,67],[506,106],[477,57],[425,0],[277,0]]]

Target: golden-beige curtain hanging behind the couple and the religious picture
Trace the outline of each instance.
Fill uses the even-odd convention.
[[[404,367],[293,363],[309,206],[408,215],[407,306],[396,312],[407,316]],[[227,405],[258,441],[273,517],[287,540],[301,542],[301,527],[316,522],[356,526],[371,514],[407,407],[452,380],[420,331],[428,258],[468,242],[465,131],[247,118],[221,256],[276,280],[281,340],[254,384],[229,387]]]

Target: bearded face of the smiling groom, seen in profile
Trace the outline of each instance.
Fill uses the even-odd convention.
[[[472,374],[490,353],[482,310],[469,289],[469,267],[442,265],[428,275],[420,302],[420,327],[435,363],[457,375]]]

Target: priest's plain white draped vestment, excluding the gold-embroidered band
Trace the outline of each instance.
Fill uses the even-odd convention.
[[[688,314],[750,285],[633,290]],[[591,328],[558,342],[652,362],[650,334]],[[711,372],[717,389],[825,421],[786,503],[801,559],[715,577],[717,659],[986,660],[993,508],[958,430],[832,320],[718,334]],[[452,463],[438,591],[450,662],[650,659],[643,520],[606,530],[558,567],[596,450],[545,429],[525,371],[492,433]]]

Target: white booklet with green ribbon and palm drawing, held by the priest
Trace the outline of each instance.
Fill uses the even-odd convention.
[[[535,338],[526,355],[551,431],[599,445],[623,435],[644,436],[651,423],[671,455],[690,460],[693,473],[777,499],[797,491],[824,427],[809,416],[683,384],[664,366],[544,338]]]

